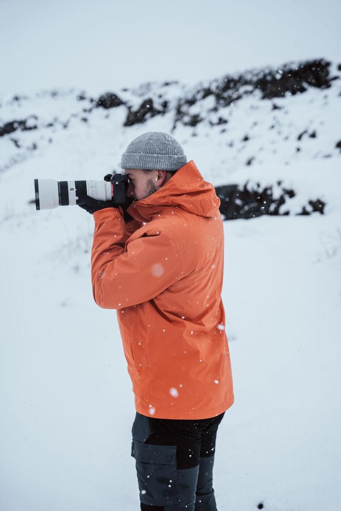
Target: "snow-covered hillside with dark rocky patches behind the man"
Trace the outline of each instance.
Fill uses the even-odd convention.
[[[341,63],[323,59],[0,98],[0,511],[138,509],[116,311],[92,296],[94,221],[37,212],[33,180],[102,179],[154,130],[183,145],[227,219],[235,404],[218,433],[219,511],[339,508],[340,117]]]

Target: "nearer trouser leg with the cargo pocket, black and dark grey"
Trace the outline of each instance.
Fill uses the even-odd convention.
[[[194,511],[201,429],[194,421],[150,419],[132,427],[143,511]]]

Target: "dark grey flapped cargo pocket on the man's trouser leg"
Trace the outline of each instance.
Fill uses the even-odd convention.
[[[131,456],[136,460],[141,502],[155,506],[176,504],[176,446],[154,446],[132,440]]]

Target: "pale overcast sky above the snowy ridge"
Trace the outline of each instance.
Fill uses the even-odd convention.
[[[0,0],[0,94],[341,61],[341,0]]]

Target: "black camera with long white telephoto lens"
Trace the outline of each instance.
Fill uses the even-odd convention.
[[[58,206],[73,206],[86,195],[97,200],[112,201],[114,204],[125,204],[128,182],[125,174],[113,174],[109,181],[35,179],[35,207],[39,211],[52,210]]]

